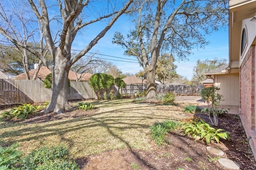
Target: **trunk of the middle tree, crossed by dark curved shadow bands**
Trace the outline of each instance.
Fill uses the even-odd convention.
[[[156,102],[156,70],[148,70],[146,72],[147,75],[147,96],[146,102]]]

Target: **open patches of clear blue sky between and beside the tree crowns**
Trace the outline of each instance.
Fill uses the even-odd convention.
[[[82,35],[78,35],[75,39],[72,49],[81,50],[86,43],[90,42],[92,38],[102,30],[102,26],[104,22],[98,23],[94,25],[92,29],[87,29],[82,33]],[[115,57],[122,57],[127,59],[136,59],[135,57],[128,57],[124,55],[125,49],[122,47],[112,44],[112,37],[115,31],[120,31],[124,35],[128,32],[130,28],[134,28],[134,25],[130,23],[126,16],[122,16],[116,21],[113,27],[106,33],[106,35],[96,44],[90,52],[98,52],[103,55],[110,55]],[[93,31],[91,31],[93,30]],[[86,38],[85,38],[86,37]],[[175,64],[178,66],[176,69],[177,73],[181,76],[188,78],[189,80],[193,76],[193,68],[196,65],[196,61],[198,59],[228,59],[228,26],[226,29],[222,29],[218,32],[214,32],[211,35],[206,35],[206,40],[209,41],[209,45],[205,46],[204,49],[193,49],[192,52],[194,54],[188,56],[188,61],[176,61]],[[99,57],[99,56],[98,56]],[[102,58],[113,59],[113,60],[122,60],[122,61],[130,61],[125,59],[117,59],[113,57],[105,57]],[[176,59],[178,60],[178,59]],[[121,61],[111,61],[106,60],[108,62],[112,62],[115,64],[123,73],[136,73],[142,70],[142,67],[138,63],[138,61],[131,61],[135,63],[121,62]]]

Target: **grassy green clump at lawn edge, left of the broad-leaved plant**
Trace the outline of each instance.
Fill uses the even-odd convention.
[[[158,146],[161,146],[162,143],[166,142],[164,136],[169,131],[174,131],[177,127],[180,126],[179,122],[166,120],[161,123],[155,123],[153,126],[150,127],[151,129],[151,137],[154,139]]]

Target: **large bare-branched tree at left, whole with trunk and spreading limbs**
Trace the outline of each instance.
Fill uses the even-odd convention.
[[[27,50],[38,57],[52,72],[52,98],[46,113],[56,111],[62,113],[71,110],[66,96],[68,89],[68,72],[70,67],[84,56],[98,41],[104,37],[115,21],[127,11],[133,0],[117,2],[115,0],[28,0],[26,1],[0,1],[5,16],[0,16],[0,33],[12,42],[15,46]],[[25,16],[32,19],[27,22],[38,21],[42,27],[44,42],[53,60],[53,65],[44,55],[17,38],[17,32],[11,27],[22,27],[22,24],[15,22],[15,10],[22,6],[28,6]],[[58,9],[58,10],[57,10]],[[54,14],[55,16],[52,16]],[[17,14],[18,15],[18,14]],[[87,17],[90,16],[90,17]],[[8,18],[8,20],[5,20]],[[85,27],[100,21],[106,23],[101,31],[95,35],[88,44],[84,45],[75,57],[71,56],[71,47],[79,31],[86,31]],[[102,22],[105,21],[105,22]],[[33,23],[31,23],[33,27]],[[38,27],[37,27],[38,28]],[[31,28],[33,30],[33,28]],[[37,29],[36,29],[37,30]],[[31,32],[31,31],[30,31]],[[18,32],[20,33],[20,32]],[[38,32],[38,34],[40,34]],[[55,36],[56,35],[56,36]],[[36,37],[38,36],[38,37]],[[33,34],[31,39],[40,39],[39,35]],[[28,39],[28,41],[32,41]],[[39,40],[38,40],[39,41]]]

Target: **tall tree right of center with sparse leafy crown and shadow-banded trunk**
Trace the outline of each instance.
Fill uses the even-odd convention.
[[[147,102],[156,100],[158,57],[166,52],[186,59],[194,47],[207,45],[204,35],[228,23],[228,0],[138,0],[132,18],[136,28],[124,36],[116,32],[113,43],[135,56],[147,74]]]

